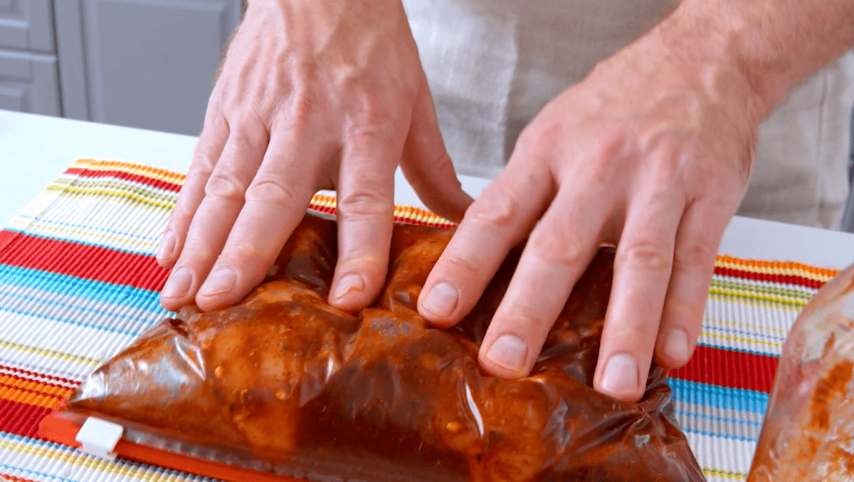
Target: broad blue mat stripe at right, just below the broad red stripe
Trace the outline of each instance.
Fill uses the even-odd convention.
[[[669,379],[673,398],[684,403],[708,405],[718,409],[742,410],[765,414],[768,394],[761,391],[708,385],[683,379]]]

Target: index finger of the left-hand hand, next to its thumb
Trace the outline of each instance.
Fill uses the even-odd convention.
[[[389,267],[395,167],[403,135],[375,128],[351,136],[338,174],[338,262],[329,301],[354,311],[370,304]]]

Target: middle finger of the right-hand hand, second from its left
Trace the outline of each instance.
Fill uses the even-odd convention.
[[[566,299],[599,247],[611,213],[605,186],[561,186],[531,232],[481,344],[479,361],[502,378],[526,376]]]

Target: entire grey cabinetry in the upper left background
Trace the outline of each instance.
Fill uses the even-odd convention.
[[[49,113],[44,97],[52,79],[50,113],[197,134],[241,6],[241,0],[0,0],[0,49],[8,49],[0,50],[0,109]],[[14,62],[4,62],[7,56]]]

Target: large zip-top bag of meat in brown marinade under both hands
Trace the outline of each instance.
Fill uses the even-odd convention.
[[[704,480],[662,368],[640,403],[592,388],[612,249],[576,284],[530,376],[507,380],[484,373],[477,350],[518,251],[458,326],[416,312],[451,234],[396,225],[383,291],[350,314],[325,301],[336,223],[309,215],[243,302],[182,309],[145,333],[44,433],[96,420],[121,433],[90,442],[107,455],[231,480]]]

